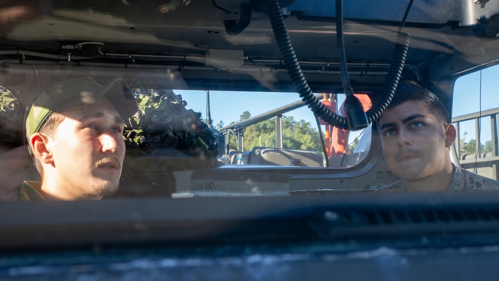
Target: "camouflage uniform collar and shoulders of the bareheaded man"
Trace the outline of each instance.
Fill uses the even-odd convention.
[[[486,178],[484,176],[472,173],[467,170],[462,170],[456,165],[454,167],[454,175],[452,176],[451,185],[448,192],[458,191],[496,191],[499,190],[499,181]],[[394,182],[380,192],[407,192],[403,180]]]

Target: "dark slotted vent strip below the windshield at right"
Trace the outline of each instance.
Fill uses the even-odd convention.
[[[499,208],[327,210],[313,225],[333,238],[498,234]]]

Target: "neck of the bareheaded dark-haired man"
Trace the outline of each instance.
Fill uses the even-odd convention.
[[[408,192],[445,192],[449,190],[454,175],[454,166],[448,163],[445,169],[437,174],[416,180],[404,180]]]

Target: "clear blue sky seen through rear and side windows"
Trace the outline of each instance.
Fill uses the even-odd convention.
[[[453,116],[478,112],[480,109],[487,110],[499,107],[498,87],[496,85],[498,74],[499,65],[460,77],[454,87]],[[482,88],[480,88],[481,85]],[[206,91],[175,90],[175,93],[181,94],[183,99],[187,101],[186,108],[201,112],[203,119],[206,118]],[[343,99],[344,95],[338,95],[338,100],[342,101]],[[211,117],[214,126],[217,126],[221,120],[225,125],[229,125],[231,122],[239,121],[244,111],[249,111],[251,116],[255,116],[298,100],[300,100],[300,97],[297,93],[210,90]],[[303,119],[315,127],[315,118],[306,106],[284,115],[293,116],[296,121]],[[490,118],[482,118],[482,123],[481,143],[484,144],[491,139]],[[467,132],[466,135],[461,135],[461,138],[465,138],[465,142],[476,139],[474,121],[462,122],[460,131],[462,134]],[[360,133],[361,131],[352,132],[349,143],[353,142]]]

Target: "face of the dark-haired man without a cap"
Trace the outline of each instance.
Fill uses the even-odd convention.
[[[437,120],[422,104],[407,101],[386,110],[379,126],[386,163],[401,179],[421,179],[446,167],[452,124]]]

